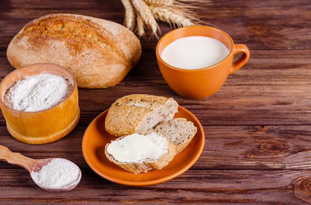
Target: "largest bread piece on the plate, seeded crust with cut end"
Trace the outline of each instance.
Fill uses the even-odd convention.
[[[106,131],[118,137],[145,133],[158,123],[165,122],[178,112],[178,103],[172,98],[133,94],[116,100],[110,106]]]

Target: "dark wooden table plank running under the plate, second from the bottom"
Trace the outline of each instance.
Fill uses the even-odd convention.
[[[4,128],[4,127],[2,127]],[[203,126],[204,150],[195,170],[311,170],[311,126]],[[81,153],[86,126],[62,140],[29,145],[0,131],[1,145],[32,158],[65,157],[88,167]],[[51,146],[53,149],[51,149]],[[1,162],[3,167],[7,164]],[[6,164],[6,165],[5,165]],[[11,165],[9,165],[11,166]]]

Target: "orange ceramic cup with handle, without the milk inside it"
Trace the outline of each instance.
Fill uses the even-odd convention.
[[[206,36],[219,40],[228,49],[225,59],[212,66],[200,69],[181,69],[167,64],[162,58],[163,49],[171,42],[188,36]],[[241,56],[233,62],[235,54]],[[210,26],[189,26],[166,33],[156,45],[156,59],[160,72],[168,86],[177,94],[191,99],[206,98],[218,91],[229,74],[242,67],[249,59],[249,50],[243,44],[234,44],[224,31]]]

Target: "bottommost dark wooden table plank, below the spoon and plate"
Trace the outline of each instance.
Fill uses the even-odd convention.
[[[4,204],[299,204],[311,203],[311,171],[188,170],[168,182],[146,187],[118,185],[82,169],[80,184],[68,193],[40,190],[22,170],[0,172]],[[18,181],[16,181],[18,179]],[[81,195],[83,193],[83,195]],[[29,197],[33,196],[33,197]]]

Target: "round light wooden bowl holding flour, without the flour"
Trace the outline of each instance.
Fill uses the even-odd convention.
[[[73,90],[67,99],[56,106],[41,111],[18,111],[4,103],[7,90],[25,76],[49,73],[66,77]],[[0,83],[0,108],[8,132],[17,140],[28,144],[54,142],[69,134],[78,124],[78,87],[75,76],[65,67],[51,63],[38,63],[16,69]]]

